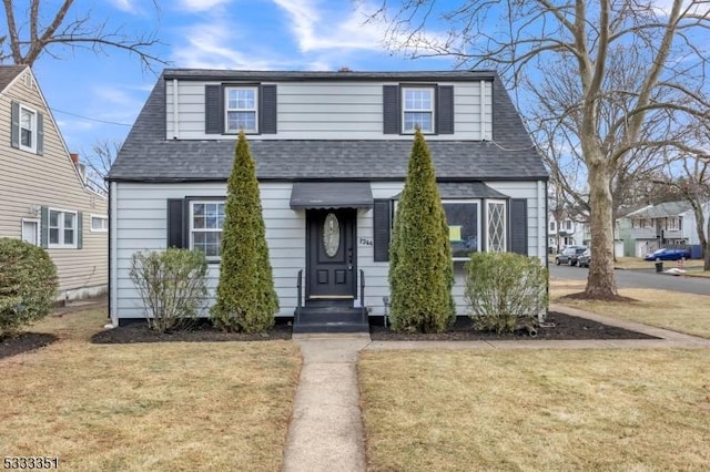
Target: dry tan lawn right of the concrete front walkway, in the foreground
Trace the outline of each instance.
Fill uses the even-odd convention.
[[[368,470],[704,470],[708,356],[365,351]]]

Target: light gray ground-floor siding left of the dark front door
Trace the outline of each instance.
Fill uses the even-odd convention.
[[[116,239],[112,283],[115,302],[112,316],[142,318],[142,300],[129,277],[131,256],[138,250],[162,250],[166,247],[169,198],[225,196],[226,184],[114,184],[115,209],[112,224]],[[292,211],[291,183],[260,185],[266,242],[278,294],[280,316],[293,316],[296,308],[296,275],[305,268],[305,212]],[[219,281],[219,264],[209,269],[210,299]],[[202,316],[207,316],[207,305]]]

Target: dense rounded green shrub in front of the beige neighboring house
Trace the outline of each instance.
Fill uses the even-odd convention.
[[[0,238],[0,337],[49,315],[57,285],[57,268],[44,249]]]

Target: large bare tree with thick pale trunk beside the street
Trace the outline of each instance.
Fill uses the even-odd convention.
[[[523,78],[540,84],[550,64],[564,63],[574,71],[576,138],[587,174],[595,254],[585,294],[618,297],[611,182],[635,150],[663,145],[665,140],[642,140],[650,116],[663,111],[672,111],[673,120],[709,115],[701,93],[708,69],[707,2],[673,0],[662,10],[651,0],[468,0],[454,6],[437,0],[385,0],[378,16],[387,21],[392,48],[413,57],[446,54],[468,66],[493,66],[511,86],[520,85]],[[448,25],[446,34],[428,34],[427,24],[433,27],[436,20]],[[608,89],[613,83],[607,80],[610,62],[620,47],[638,58],[633,65],[640,85],[632,90]],[[609,98],[619,94],[629,100],[607,130],[600,114]]]

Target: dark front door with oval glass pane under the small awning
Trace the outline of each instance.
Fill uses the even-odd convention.
[[[353,208],[306,212],[308,298],[354,298],[356,216]]]

